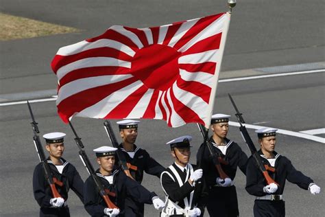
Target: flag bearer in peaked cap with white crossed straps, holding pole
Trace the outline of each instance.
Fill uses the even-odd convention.
[[[189,163],[191,139],[183,136],[167,142],[175,162],[160,176],[167,200],[161,216],[200,216],[204,212],[203,172]]]

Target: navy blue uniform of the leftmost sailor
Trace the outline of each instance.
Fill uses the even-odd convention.
[[[49,159],[47,160],[53,176],[63,183],[62,187],[56,185],[59,194],[62,196],[64,201],[67,201],[69,189],[72,189],[80,200],[84,201],[84,181],[82,181],[80,174],[71,163],[62,158],[61,160],[64,166],[62,174],[58,172],[52,161]],[[66,205],[56,208],[52,207],[49,203],[51,198],[53,198],[53,194],[49,187],[49,183],[45,179],[45,172],[41,163],[36,165],[34,170],[33,190],[34,198],[38,205],[40,205],[40,216],[70,216],[69,207]]]

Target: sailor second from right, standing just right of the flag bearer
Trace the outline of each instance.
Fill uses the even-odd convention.
[[[211,117],[210,128],[213,136],[209,141],[212,144],[212,150],[215,156],[219,158],[221,169],[228,178],[221,179],[212,155],[202,144],[197,151],[197,164],[202,165],[203,176],[208,185],[208,203],[206,208],[210,216],[239,216],[238,200],[236,187],[234,186],[234,177],[237,167],[246,173],[248,157],[241,150],[237,143],[227,138],[229,130],[230,115],[215,114]]]

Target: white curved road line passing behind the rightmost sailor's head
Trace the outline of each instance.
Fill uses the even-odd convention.
[[[229,122],[228,124],[230,126],[240,126],[240,124],[237,123],[237,122]],[[258,126],[258,125],[252,125],[252,124],[243,124],[243,125],[246,128],[256,129],[256,130],[265,127],[265,126]],[[318,141],[318,142],[320,142],[322,144],[325,144],[325,138],[323,138],[323,137],[316,137],[314,135],[309,135],[309,134],[299,133],[299,132],[293,132],[293,131],[289,131],[289,130],[282,130],[282,129],[278,129],[278,131],[276,131],[276,133],[289,135],[289,136],[293,136],[293,137],[300,137],[300,138],[309,139],[309,140],[313,140],[313,141]]]

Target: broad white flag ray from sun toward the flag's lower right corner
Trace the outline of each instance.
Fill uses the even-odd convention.
[[[182,102],[182,104],[186,105],[188,108],[191,108],[191,110],[195,112],[201,119],[203,119],[204,122],[206,122],[206,118],[210,118],[207,117],[208,115],[205,109],[208,104],[204,102],[202,98],[194,95],[193,93],[180,89],[177,86],[176,82],[173,84],[173,93],[175,97],[180,102]]]

